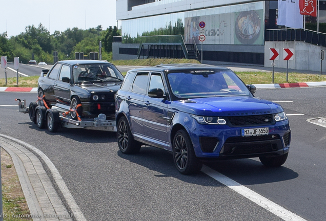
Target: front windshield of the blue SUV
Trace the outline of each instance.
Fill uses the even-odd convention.
[[[251,96],[247,86],[233,72],[191,71],[169,73],[171,90],[177,98]]]

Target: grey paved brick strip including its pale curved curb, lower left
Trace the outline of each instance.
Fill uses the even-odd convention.
[[[0,134],[1,147],[8,150],[16,167],[19,181],[26,197],[33,220],[77,220],[86,218],[81,213],[66,184],[52,162],[37,148],[15,138]],[[34,151],[49,167],[57,187],[62,192],[72,214],[64,206],[63,201],[56,192],[43,164],[30,151]]]

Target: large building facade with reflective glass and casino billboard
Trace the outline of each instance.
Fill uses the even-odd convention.
[[[265,30],[278,28],[276,14],[277,1],[117,0],[122,38],[113,59],[185,57],[183,41],[186,51],[202,51],[203,63],[263,65]]]

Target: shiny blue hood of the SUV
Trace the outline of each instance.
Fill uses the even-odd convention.
[[[283,108],[271,101],[255,97],[211,97],[173,101],[174,109],[199,116],[244,116],[275,114]]]

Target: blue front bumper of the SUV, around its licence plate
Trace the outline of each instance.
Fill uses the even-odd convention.
[[[198,158],[241,159],[282,155],[289,151],[291,143],[288,120],[263,126],[269,128],[268,135],[251,137],[242,137],[241,129],[261,126],[203,125],[195,120],[187,126]]]

